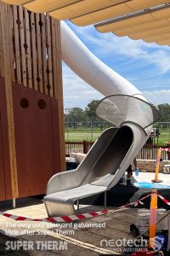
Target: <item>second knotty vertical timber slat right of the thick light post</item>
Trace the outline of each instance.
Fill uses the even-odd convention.
[[[21,75],[22,75],[22,84],[27,86],[26,80],[26,50],[25,50],[25,28],[24,28],[24,17],[23,17],[23,8],[19,6],[19,35],[20,35],[20,55],[21,55]]]

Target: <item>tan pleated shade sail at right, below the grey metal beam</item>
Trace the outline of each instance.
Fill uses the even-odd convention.
[[[113,32],[116,36],[128,36],[145,42],[169,45],[170,5],[144,10],[115,20],[109,20],[95,26],[99,32]]]

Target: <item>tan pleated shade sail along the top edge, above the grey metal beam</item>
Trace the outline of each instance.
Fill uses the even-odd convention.
[[[33,12],[50,12],[59,20],[71,19],[78,26],[94,24],[141,9],[148,9],[165,0],[3,0],[4,3],[23,4]]]

